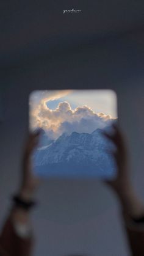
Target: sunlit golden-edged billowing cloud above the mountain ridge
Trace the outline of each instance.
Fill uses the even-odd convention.
[[[59,97],[53,95],[53,98]],[[51,97],[51,98],[52,98]],[[31,112],[31,123],[33,128],[41,127],[49,135],[56,139],[62,133],[71,134],[73,131],[78,133],[92,133],[96,128],[104,128],[112,122],[110,115],[95,113],[88,106],[71,109],[67,101],[60,102],[56,109],[49,109],[47,102],[51,98],[40,101],[37,108]]]

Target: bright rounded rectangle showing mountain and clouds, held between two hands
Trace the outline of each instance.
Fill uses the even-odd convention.
[[[41,129],[34,172],[51,178],[113,178],[117,172],[102,131],[113,133],[113,90],[37,90],[29,97],[29,127]]]

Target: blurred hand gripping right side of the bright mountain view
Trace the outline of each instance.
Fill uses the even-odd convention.
[[[124,137],[117,125],[113,125],[114,134],[103,132],[103,135],[110,139],[116,146],[117,151],[111,152],[117,164],[117,177],[111,181],[105,181],[117,194],[121,206],[131,216],[139,217],[144,213],[143,203],[137,198],[131,184],[129,175],[129,160]]]

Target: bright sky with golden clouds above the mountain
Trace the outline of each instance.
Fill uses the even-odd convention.
[[[37,90],[29,97],[31,130],[43,128],[57,139],[63,133],[92,133],[117,118],[112,90]]]

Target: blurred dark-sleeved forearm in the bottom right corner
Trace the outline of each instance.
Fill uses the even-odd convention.
[[[132,187],[118,194],[132,256],[144,255],[144,207]]]

